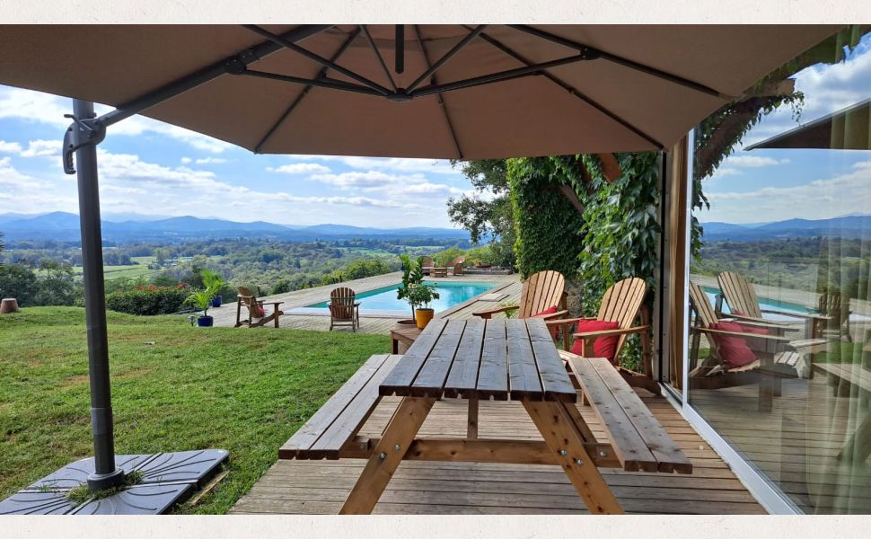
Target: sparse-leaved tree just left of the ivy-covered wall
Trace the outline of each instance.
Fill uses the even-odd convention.
[[[490,262],[514,266],[515,221],[508,197],[506,160],[452,160],[451,164],[459,167],[479,193],[448,199],[448,216],[469,231],[471,243],[479,244],[488,239],[495,257]]]

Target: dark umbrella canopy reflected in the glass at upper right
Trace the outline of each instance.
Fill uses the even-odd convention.
[[[757,148],[871,150],[871,99],[814,119],[804,126],[790,129],[744,149]]]

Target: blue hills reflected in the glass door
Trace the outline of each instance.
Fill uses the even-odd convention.
[[[871,238],[871,216],[850,215],[831,219],[787,219],[774,223],[735,225],[732,223],[701,223],[704,239],[709,242],[758,242],[814,236],[841,238]]]

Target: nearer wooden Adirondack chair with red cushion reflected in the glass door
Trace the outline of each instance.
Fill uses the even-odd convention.
[[[698,360],[700,335],[705,335],[711,349],[711,356],[690,371],[690,387],[717,389],[759,384],[760,411],[771,410],[772,398],[780,394],[780,380],[809,370],[805,355],[825,346],[825,340],[789,340],[783,336],[783,327],[777,324],[755,323],[744,318],[717,318],[708,296],[694,282],[690,282],[690,302],[696,319],[691,327],[691,361]],[[717,324],[722,323],[740,323],[742,331],[718,328]],[[768,334],[763,334],[764,331]],[[741,341],[727,342],[730,337],[743,340],[756,359],[743,365],[730,365],[735,344],[741,345]]]

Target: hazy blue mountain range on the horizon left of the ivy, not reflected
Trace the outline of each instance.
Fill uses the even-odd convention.
[[[110,242],[166,242],[192,239],[274,238],[310,242],[350,238],[435,238],[468,240],[469,233],[451,228],[372,228],[350,225],[276,225],[264,221],[238,223],[224,219],[201,219],[192,216],[157,220],[101,221],[103,239]],[[43,215],[0,214],[0,231],[7,241],[80,240],[79,216],[66,212]]]

